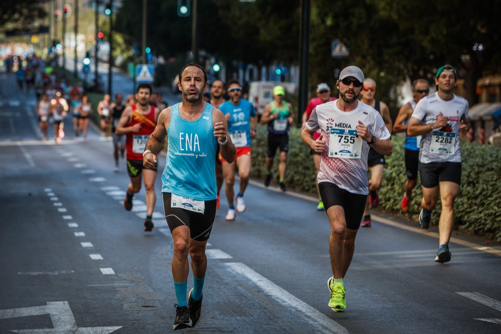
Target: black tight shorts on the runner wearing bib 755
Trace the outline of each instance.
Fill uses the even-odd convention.
[[[339,188],[331,182],[321,182],[318,184],[320,197],[324,202],[325,212],[332,206],[339,205],[345,212],[346,228],[358,230],[364,215],[367,195],[353,194],[347,190]]]

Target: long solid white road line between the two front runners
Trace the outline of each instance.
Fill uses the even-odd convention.
[[[230,262],[224,263],[231,271],[238,273],[258,285],[265,293],[272,296],[282,305],[293,307],[304,314],[305,320],[313,326],[315,332],[323,333],[348,333],[348,330],[336,321],[330,319],[315,308],[311,307],[301,299],[290,294],[280,286],[276,285],[267,278],[261,276],[256,271],[250,269],[243,263]]]

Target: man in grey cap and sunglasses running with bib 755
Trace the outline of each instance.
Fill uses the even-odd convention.
[[[390,133],[374,108],[357,100],[364,74],[348,66],[339,76],[339,99],[318,105],[301,132],[303,141],[321,153],[317,177],[320,196],[331,223],[329,249],[333,276],[327,284],[329,307],[346,309],[343,277],[350,266],[355,237],[369,194],[367,156],[370,146],[391,155]],[[313,135],[322,134],[315,140]]]

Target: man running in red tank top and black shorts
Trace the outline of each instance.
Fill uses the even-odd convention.
[[[143,152],[150,134],[155,130],[156,121],[160,114],[158,108],[149,104],[150,95],[151,85],[139,84],[136,92],[138,103],[125,108],[115,129],[116,134],[126,135],[127,172],[131,183],[127,186],[127,195],[124,199],[125,210],[132,210],[132,197],[141,190],[141,175],[144,175],[144,188],[146,189],[145,231],[153,229],[152,216],[156,202],[154,184],[157,165],[151,169],[145,168],[143,166]]]

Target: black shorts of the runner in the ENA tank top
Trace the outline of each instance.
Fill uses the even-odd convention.
[[[216,201],[204,201],[205,211],[202,213],[182,209],[172,208],[170,205],[171,193],[162,193],[163,211],[165,219],[169,225],[170,233],[182,225],[189,227],[190,237],[196,241],[209,239],[214,218],[216,217]]]

